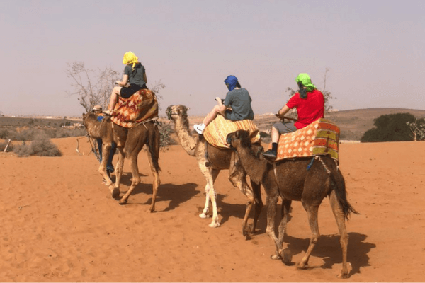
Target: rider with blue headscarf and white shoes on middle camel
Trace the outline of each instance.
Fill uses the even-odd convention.
[[[254,111],[251,108],[251,96],[248,91],[242,88],[236,76],[227,76],[225,84],[229,89],[226,94],[224,103],[220,98],[215,98],[218,105],[212,108],[211,112],[204,118],[202,124],[193,125],[193,128],[198,134],[203,134],[205,127],[207,127],[218,114],[223,115],[227,120],[240,121],[240,120],[254,120]],[[231,108],[228,109],[228,108]]]

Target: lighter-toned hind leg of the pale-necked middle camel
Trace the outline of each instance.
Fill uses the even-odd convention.
[[[248,202],[246,203],[246,210],[244,221],[242,222],[242,234],[246,237],[246,240],[251,238],[251,227],[248,226],[248,218],[249,213],[251,212],[252,205],[255,202],[254,192],[249,187],[248,183],[246,183],[246,173],[244,168],[239,161],[239,155],[236,153],[232,153],[232,158],[230,160],[229,166],[229,180],[234,185],[234,187],[238,187],[241,192],[246,195],[248,198]]]

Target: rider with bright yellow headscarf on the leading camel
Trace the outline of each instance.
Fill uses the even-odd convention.
[[[104,112],[107,115],[112,115],[115,104],[118,102],[118,96],[129,98],[136,91],[147,88],[146,69],[139,62],[139,57],[131,51],[125,52],[123,64],[126,65],[124,67],[123,79],[115,82],[118,86],[115,86],[111,93],[111,102],[108,105],[108,110]],[[129,82],[130,86],[128,86]]]

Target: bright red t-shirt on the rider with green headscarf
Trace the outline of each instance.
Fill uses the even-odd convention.
[[[317,119],[324,118],[324,97],[323,93],[314,89],[307,93],[306,99],[300,98],[300,93],[295,93],[286,103],[288,108],[297,108],[298,119],[295,127],[301,129],[310,125]]]

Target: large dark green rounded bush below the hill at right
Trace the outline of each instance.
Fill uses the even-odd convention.
[[[414,120],[414,115],[410,113],[381,115],[373,122],[375,128],[363,134],[361,142],[412,141],[407,122],[414,122]]]

